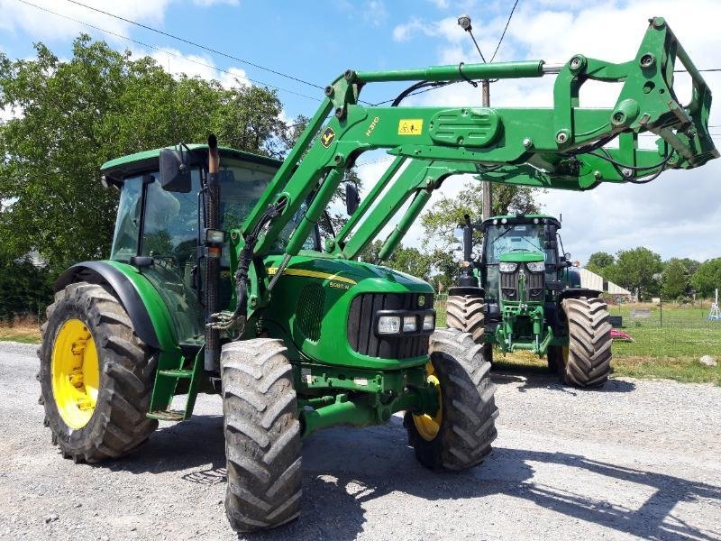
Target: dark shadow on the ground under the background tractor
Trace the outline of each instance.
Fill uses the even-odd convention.
[[[491,372],[491,378],[497,384],[504,384],[510,381],[521,382],[518,392],[525,392],[529,389],[550,389],[561,392],[578,395],[585,392],[633,392],[636,385],[632,381],[610,379],[601,388],[596,389],[580,389],[571,385],[566,385],[559,381],[558,376],[550,374],[545,368],[536,366],[519,366],[517,364],[503,364],[496,366]]]

